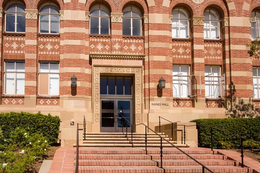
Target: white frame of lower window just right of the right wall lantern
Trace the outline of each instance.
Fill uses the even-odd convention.
[[[178,95],[173,95],[173,97],[183,97],[183,98],[191,97],[191,75],[190,75],[191,74],[191,67],[190,67],[190,65],[175,65],[174,64],[173,66],[179,66],[178,74],[172,75],[172,87],[174,85],[178,85],[178,87],[179,87],[179,94]],[[173,66],[172,66],[172,68],[173,68]],[[187,76],[185,76],[185,75],[183,75],[181,73],[181,66],[188,66],[188,75]],[[174,80],[173,80],[174,77],[178,77],[178,82],[177,83],[174,82]],[[187,77],[187,80],[188,80],[188,82],[187,82],[187,87],[188,87],[188,89],[187,89],[187,97],[183,96],[183,77]],[[173,89],[174,88],[172,88],[172,93],[174,93]]]

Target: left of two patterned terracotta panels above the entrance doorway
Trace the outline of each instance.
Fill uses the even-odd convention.
[[[110,53],[111,42],[107,37],[91,37],[90,53]]]

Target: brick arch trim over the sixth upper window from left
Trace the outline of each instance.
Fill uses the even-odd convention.
[[[215,8],[221,15],[221,18],[223,17],[228,17],[228,12],[227,12],[227,8],[225,6],[225,4],[223,2],[219,2],[216,0],[207,0],[203,6],[201,7],[201,16],[203,16],[203,13],[205,11],[206,8],[208,7],[212,7]]]

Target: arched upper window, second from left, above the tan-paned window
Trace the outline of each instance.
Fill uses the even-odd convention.
[[[51,3],[40,10],[40,33],[59,33],[59,9]]]

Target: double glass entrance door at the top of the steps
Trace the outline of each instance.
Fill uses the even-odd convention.
[[[101,99],[101,131],[121,132],[122,127],[130,127],[122,116],[132,123],[131,105],[131,99]]]

